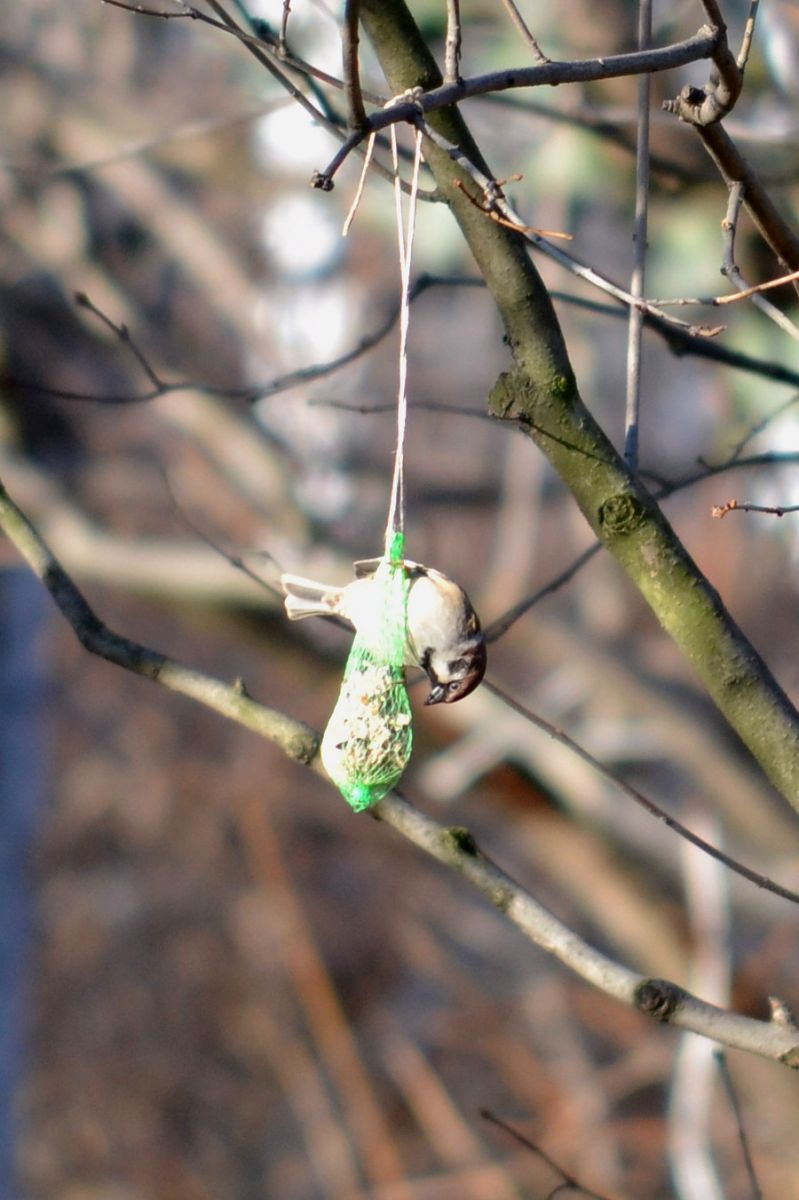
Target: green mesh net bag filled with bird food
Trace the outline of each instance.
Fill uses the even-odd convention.
[[[413,730],[405,689],[408,576],[404,536],[374,574],[374,620],[355,634],[336,707],[322,739],[322,761],[347,803],[361,812],[398,782]]]

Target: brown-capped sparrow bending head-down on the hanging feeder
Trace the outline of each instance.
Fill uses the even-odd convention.
[[[299,575],[283,575],[289,620],[305,617],[342,617],[354,629],[368,629],[380,619],[374,595],[379,558],[354,563],[355,578],[340,588]],[[477,686],[486,673],[486,641],[468,595],[432,566],[404,562],[408,589],[405,662],[419,666],[431,682],[426,704],[453,704]]]

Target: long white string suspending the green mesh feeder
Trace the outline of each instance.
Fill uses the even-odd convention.
[[[391,126],[391,155],[394,158],[394,194],[397,210],[397,244],[400,248],[400,382],[397,388],[397,450],[394,460],[394,478],[391,480],[391,500],[389,520],[385,527],[385,553],[391,554],[395,533],[404,532],[405,494],[404,494],[404,457],[405,426],[408,421],[408,326],[410,324],[410,262],[416,232],[416,196],[419,192],[419,173],[421,168],[421,131],[416,130],[414,169],[410,180],[408,223],[403,224],[402,182],[397,155],[396,127]]]

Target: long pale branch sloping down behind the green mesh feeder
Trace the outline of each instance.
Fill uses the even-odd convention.
[[[90,653],[191,696],[274,742],[289,758],[324,774],[317,754],[318,734],[307,725],[259,704],[242,685],[227,686],[109,630],[1,484],[0,529],[41,578]],[[677,984],[648,979],[614,962],[572,932],[486,858],[468,830],[438,824],[398,793],[388,796],[373,811],[420,850],[467,878],[531,942],[601,991],[657,1021],[692,1030],[725,1045],[799,1068],[799,1030],[791,1021],[776,1018],[758,1021],[740,1016],[704,1003]]]

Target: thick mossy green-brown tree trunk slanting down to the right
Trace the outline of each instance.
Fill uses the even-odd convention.
[[[403,0],[362,0],[361,16],[394,92],[439,85],[438,67]],[[427,120],[491,174],[457,109],[428,113]],[[719,709],[799,811],[799,714],[585,408],[552,301],[522,238],[464,198],[456,182],[468,186],[465,172],[431,139],[425,156],[486,278],[513,355],[512,368],[492,390],[491,412],[518,422],[547,455]]]

